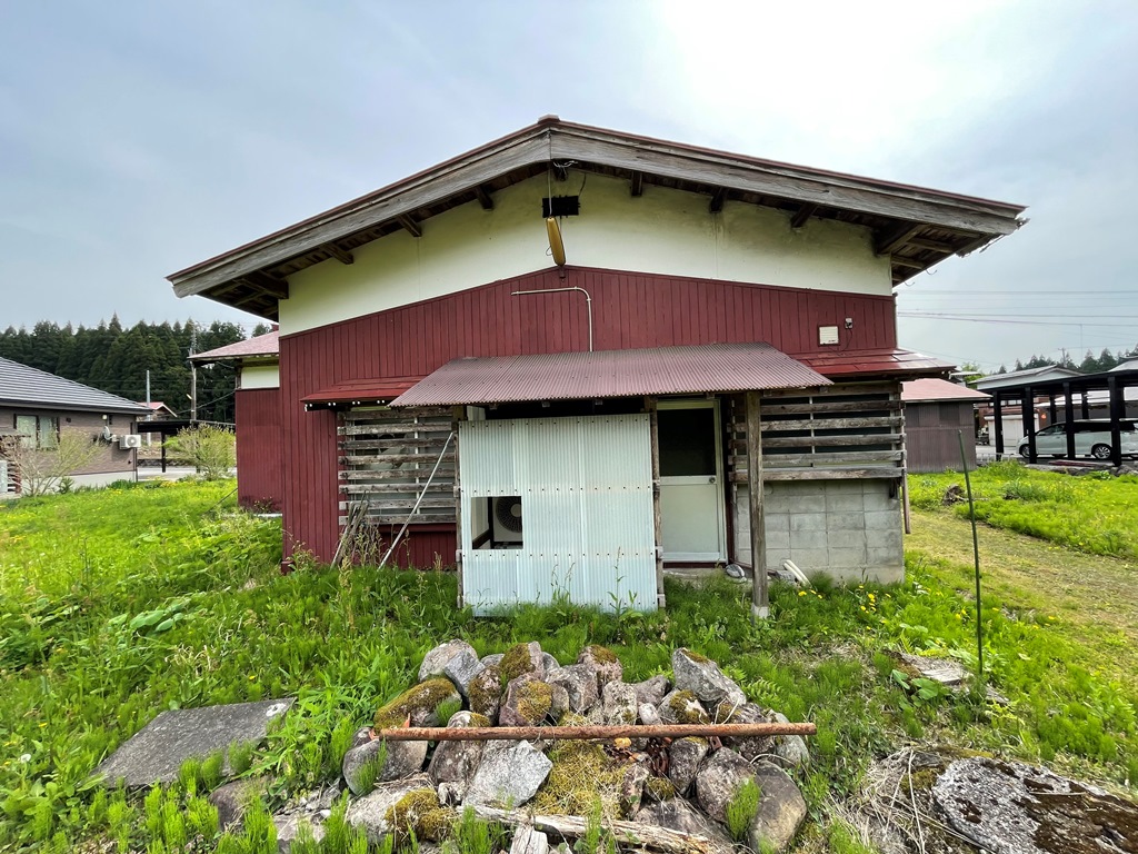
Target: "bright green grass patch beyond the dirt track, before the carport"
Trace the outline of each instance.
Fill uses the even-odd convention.
[[[909,476],[914,508],[942,507],[945,492],[964,486],[955,473]],[[1105,473],[1036,471],[1014,460],[972,474],[976,519],[1090,555],[1138,558],[1138,477]],[[968,516],[967,502],[951,512]]]

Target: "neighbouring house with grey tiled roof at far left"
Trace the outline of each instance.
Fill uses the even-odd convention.
[[[64,430],[80,430],[99,445],[94,459],[67,473],[77,484],[93,486],[133,477],[141,443],[137,422],[145,404],[73,383],[26,364],[0,359],[0,444],[24,451],[51,451]],[[131,438],[126,438],[130,436]],[[19,492],[19,469],[9,451],[0,470],[0,491]]]

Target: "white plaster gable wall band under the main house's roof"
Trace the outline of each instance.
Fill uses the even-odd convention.
[[[709,197],[569,173],[554,196],[580,195],[579,216],[561,220],[568,263],[760,285],[889,295],[888,258],[873,253],[869,231],[810,220],[790,228],[786,214],[741,202],[708,212]],[[289,277],[280,303],[282,334],[452,294],[552,266],[538,176],[427,220],[423,236],[405,231],[362,246],[355,263],[330,260]]]

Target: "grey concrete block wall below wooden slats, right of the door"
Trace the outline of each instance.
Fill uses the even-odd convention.
[[[748,486],[735,504],[735,555],[751,561]],[[905,577],[896,481],[774,481],[764,486],[767,567],[793,560],[836,581]]]

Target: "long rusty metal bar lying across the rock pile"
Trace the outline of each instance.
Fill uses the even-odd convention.
[[[390,741],[599,741],[615,738],[758,738],[813,736],[813,723],[677,723],[653,726],[401,726],[376,730],[376,738]]]

